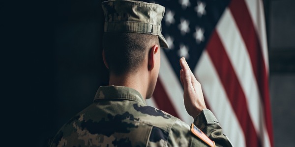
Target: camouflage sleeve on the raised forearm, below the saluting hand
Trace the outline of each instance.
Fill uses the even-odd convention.
[[[217,147],[233,147],[229,138],[222,133],[222,128],[213,113],[204,109],[194,120],[196,125]]]

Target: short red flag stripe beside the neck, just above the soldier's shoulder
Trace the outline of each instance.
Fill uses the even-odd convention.
[[[175,111],[175,108],[173,107],[173,104],[170,100],[170,98],[168,97],[163,84],[161,82],[161,79],[158,78],[157,83],[156,83],[156,87],[153,93],[153,98],[155,100],[155,102],[157,103],[157,106],[159,107],[160,110],[163,110],[177,118],[177,112]]]

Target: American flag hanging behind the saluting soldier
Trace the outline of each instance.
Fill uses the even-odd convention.
[[[165,6],[161,67],[148,105],[190,124],[179,80],[184,56],[207,107],[235,147],[273,147],[263,0],[158,0]]]

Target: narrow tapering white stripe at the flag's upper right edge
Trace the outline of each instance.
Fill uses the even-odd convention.
[[[245,0],[245,3],[249,10],[250,16],[254,23],[254,27],[261,44],[263,58],[266,64],[266,73],[268,74],[268,51],[263,0]]]

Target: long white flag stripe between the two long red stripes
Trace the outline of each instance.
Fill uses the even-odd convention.
[[[264,116],[261,115],[261,112],[263,112],[262,106],[264,105],[261,102],[250,56],[229,9],[225,10],[216,30],[245,94],[248,112],[255,130],[261,137],[265,136],[267,135],[264,134],[265,131],[260,131],[260,128],[262,128],[261,122],[265,123]]]

